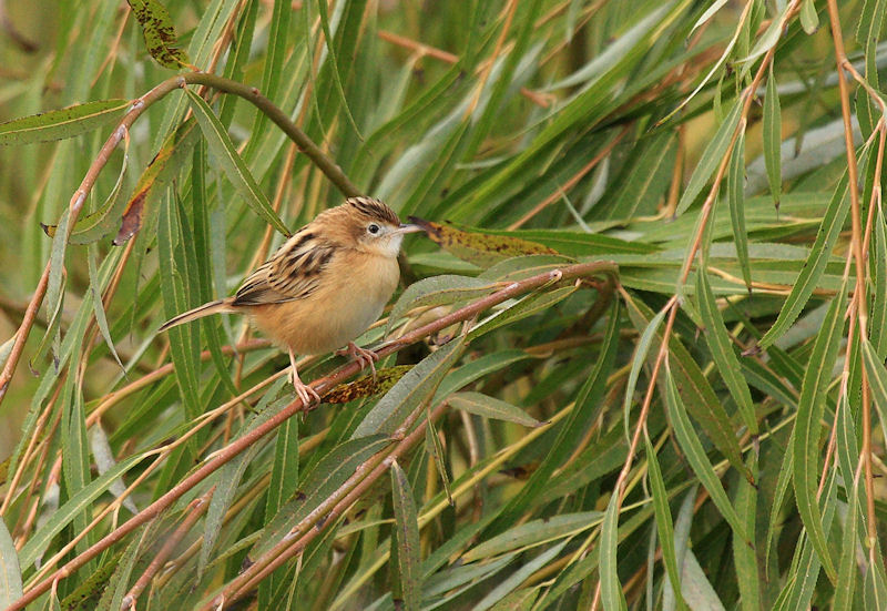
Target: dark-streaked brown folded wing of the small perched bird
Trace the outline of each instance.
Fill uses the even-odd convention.
[[[281,304],[304,299],[320,286],[336,247],[305,227],[263,263],[237,289],[232,305]]]

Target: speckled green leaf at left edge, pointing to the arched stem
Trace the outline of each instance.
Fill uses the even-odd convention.
[[[0,123],[0,146],[64,140],[119,119],[129,100],[99,100]]]

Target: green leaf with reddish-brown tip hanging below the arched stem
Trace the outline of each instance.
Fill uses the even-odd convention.
[[[175,172],[182,167],[179,162],[184,155],[190,154],[191,147],[197,141],[196,136],[200,132],[194,130],[195,124],[193,119],[182,123],[166,138],[157,154],[147,164],[147,169],[140,176],[135,191],[126,203],[126,210],[123,211],[123,220],[120,231],[114,237],[114,246],[124,244],[142,228],[142,216],[147,196],[156,192],[157,186],[166,186]]]

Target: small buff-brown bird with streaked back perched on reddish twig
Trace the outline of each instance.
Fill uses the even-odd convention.
[[[354,339],[381,314],[400,277],[397,255],[404,235],[422,231],[401,224],[378,200],[350,197],[302,227],[253,272],[233,297],[180,314],[160,330],[211,314],[248,314],[275,343],[286,347],[290,381],[305,405],[320,396],[296,370],[296,354],[314,355],[347,348],[369,366],[378,355]]]

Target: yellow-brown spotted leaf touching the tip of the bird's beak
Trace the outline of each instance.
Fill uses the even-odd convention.
[[[481,267],[489,267],[500,261],[521,255],[558,254],[548,246],[520,237],[467,232],[416,216],[410,216],[409,220],[425,230],[428,237],[440,244],[445,251]]]

